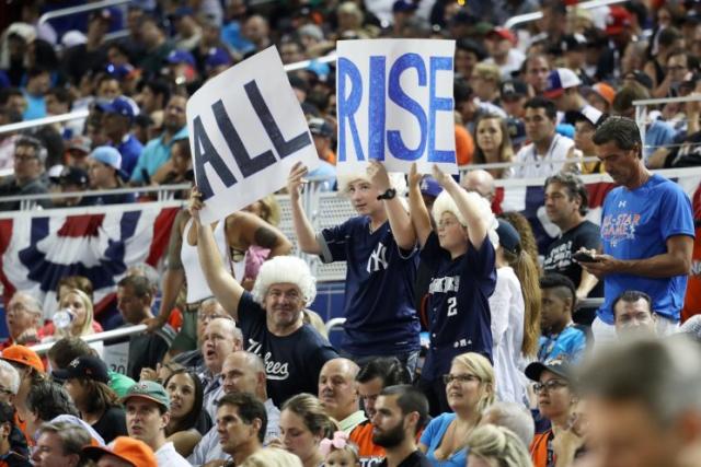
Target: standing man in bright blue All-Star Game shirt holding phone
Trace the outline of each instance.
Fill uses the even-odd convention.
[[[618,185],[604,201],[604,253],[586,252],[593,257],[579,260],[605,283],[604,305],[591,325],[594,339],[616,339],[612,305],[627,290],[647,293],[658,317],[657,334],[671,334],[679,326],[691,268],[694,227],[689,197],[677,184],[647,171],[634,120],[609,118],[597,128],[594,143]]]

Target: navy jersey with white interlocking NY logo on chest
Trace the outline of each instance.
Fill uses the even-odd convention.
[[[418,350],[416,255],[400,250],[389,221],[370,233],[370,218],[359,215],[318,241],[323,262],[347,261],[342,349],[358,357]]]

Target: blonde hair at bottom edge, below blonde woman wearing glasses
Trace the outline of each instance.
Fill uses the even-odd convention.
[[[532,467],[524,442],[509,429],[485,424],[472,430],[467,447],[473,456],[494,459],[499,467]]]

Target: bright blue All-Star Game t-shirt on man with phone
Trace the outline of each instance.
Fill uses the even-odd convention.
[[[605,201],[601,213],[604,253],[617,259],[643,259],[667,253],[670,236],[694,236],[691,201],[674,182],[653,175],[640,188],[617,187]],[[679,320],[687,290],[687,276],[646,278],[611,273],[605,277],[604,305],[597,314],[613,324],[612,304],[627,290],[640,290],[653,300],[655,313]]]

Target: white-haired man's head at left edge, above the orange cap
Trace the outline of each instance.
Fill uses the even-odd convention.
[[[15,292],[5,307],[4,322],[10,337],[0,343],[0,350],[20,343],[32,346],[38,343],[42,324],[42,305],[26,292]]]

